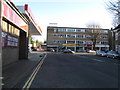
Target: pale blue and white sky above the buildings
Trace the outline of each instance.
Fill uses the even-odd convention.
[[[47,26],[86,28],[97,23],[103,29],[112,28],[112,14],[108,11],[108,0],[11,0],[15,5],[28,4],[37,23],[43,30],[39,41],[46,40]]]

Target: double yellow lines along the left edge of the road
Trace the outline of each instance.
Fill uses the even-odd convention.
[[[25,83],[25,85],[23,86],[22,90],[28,90],[30,88],[30,86],[31,86],[33,80],[35,79],[35,76],[38,73],[39,69],[41,68],[41,66],[42,66],[42,64],[43,64],[46,56],[47,56],[47,54],[43,57],[43,59],[38,64],[38,66],[35,68],[35,70],[31,74],[31,76],[29,77],[29,79],[27,80],[27,82]]]

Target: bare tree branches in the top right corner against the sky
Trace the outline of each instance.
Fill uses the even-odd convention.
[[[113,26],[118,26],[120,24],[120,0],[109,1],[107,8],[114,15]]]

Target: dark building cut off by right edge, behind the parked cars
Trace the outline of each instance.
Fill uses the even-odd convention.
[[[120,25],[118,25],[115,29],[115,50],[120,53]]]

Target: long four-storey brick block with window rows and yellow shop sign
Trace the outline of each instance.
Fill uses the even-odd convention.
[[[97,50],[109,50],[109,30],[95,29],[100,32],[96,42]],[[47,27],[47,48],[71,49],[73,51],[91,50],[93,42],[90,39],[89,28]]]

